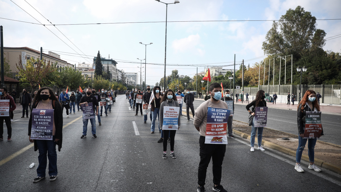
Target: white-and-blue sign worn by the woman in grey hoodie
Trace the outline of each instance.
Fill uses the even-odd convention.
[[[178,130],[180,107],[163,107],[163,130]]]

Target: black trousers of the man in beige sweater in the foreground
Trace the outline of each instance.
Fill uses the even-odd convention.
[[[225,144],[205,144],[205,137],[200,136],[200,163],[198,168],[198,185],[204,186],[208,164],[212,157],[213,183],[220,185],[221,165],[223,164],[226,145]]]

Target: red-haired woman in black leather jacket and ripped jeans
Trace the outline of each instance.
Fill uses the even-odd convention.
[[[298,172],[304,172],[302,169],[300,162],[302,157],[302,152],[306,146],[306,143],[308,141],[308,156],[309,156],[309,169],[314,169],[316,172],[320,172],[321,169],[318,168],[314,164],[314,148],[316,144],[317,138],[320,138],[320,136],[323,135],[323,129],[321,125],[321,113],[316,113],[316,116],[319,115],[319,123],[314,124],[311,128],[314,128],[315,126],[318,126],[318,128],[314,128],[314,131],[316,131],[317,135],[314,135],[310,138],[310,135],[305,135],[305,128],[306,128],[306,119],[309,117],[306,117],[306,114],[309,111],[320,111],[320,106],[318,105],[318,101],[316,100],[316,93],[313,90],[308,90],[302,97],[302,100],[300,101],[298,107],[297,107],[297,126],[298,126],[298,148],[296,151],[296,165],[295,169]],[[315,115],[314,115],[315,116]],[[316,117],[317,119],[317,117]],[[321,125],[321,126],[320,126]]]

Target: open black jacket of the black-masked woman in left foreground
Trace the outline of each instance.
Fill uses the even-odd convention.
[[[35,109],[38,105],[38,102],[32,105],[32,109]],[[58,145],[58,151],[62,148],[62,141],[63,141],[63,111],[61,108],[61,105],[58,101],[53,100],[52,101],[52,108],[54,109],[54,122],[56,127],[56,133],[55,133],[55,139],[59,139],[57,141]],[[28,123],[28,135],[31,135],[31,129],[32,129],[32,110],[30,115],[30,120]],[[34,151],[38,150],[38,146],[36,141],[34,140]]]

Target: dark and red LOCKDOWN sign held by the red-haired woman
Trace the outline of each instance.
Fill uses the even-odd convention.
[[[322,133],[321,112],[306,111],[306,127],[303,138],[320,138]]]

